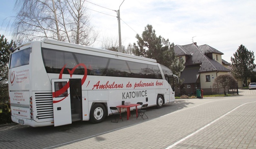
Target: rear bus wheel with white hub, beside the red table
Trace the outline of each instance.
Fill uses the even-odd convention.
[[[105,106],[101,103],[95,103],[90,111],[90,119],[89,121],[93,124],[97,124],[103,122],[106,117],[106,109]]]

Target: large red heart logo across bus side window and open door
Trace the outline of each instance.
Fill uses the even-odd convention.
[[[67,65],[67,64],[66,64]],[[64,65],[62,67],[62,70],[60,71],[60,75],[59,75],[59,79],[62,79],[62,74],[63,74],[63,71],[64,69],[66,68],[66,65]],[[84,65],[83,63],[79,63],[78,65],[76,65],[72,70],[68,70],[68,73],[70,74],[70,78],[72,78],[72,75],[74,73],[74,71],[76,70],[76,68],[78,68],[79,66],[83,67],[84,68],[84,76],[81,80],[81,85],[84,84],[86,78],[87,78],[87,68],[86,68],[86,65]],[[66,89],[68,89],[70,87],[70,82],[68,81],[67,84],[65,86],[63,86],[60,90],[56,91],[56,92],[52,92],[52,96],[53,98],[55,97],[58,97],[60,95],[62,95],[64,92],[66,92]],[[68,95],[66,95],[66,97],[68,97]],[[53,100],[53,103],[58,103],[62,100],[64,100],[66,97],[63,97],[62,99],[60,100]]]

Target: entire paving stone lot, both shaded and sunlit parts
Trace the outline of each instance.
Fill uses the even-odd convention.
[[[239,94],[178,99],[161,109],[149,108],[145,120],[111,123],[107,117],[100,124],[0,127],[0,149],[255,149],[256,90]]]

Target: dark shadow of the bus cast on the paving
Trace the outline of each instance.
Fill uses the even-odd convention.
[[[156,109],[155,106],[148,107],[146,114],[149,119],[141,119],[136,115],[130,117],[127,120],[127,113],[122,113],[123,121],[119,120],[118,123],[111,122],[112,116],[107,116],[104,122],[99,124],[91,124],[88,121],[73,122],[70,125],[63,125],[58,127],[29,127],[25,125],[10,125],[1,127],[0,132],[2,136],[6,136],[5,139],[12,141],[12,145],[21,148],[55,148],[60,147],[59,144],[69,144],[83,139],[96,137],[98,141],[104,140],[99,135],[112,132],[121,128],[130,127],[132,125],[141,124],[147,120],[156,119],[165,114],[172,113],[174,111],[183,109],[190,104],[188,100],[177,100],[174,103],[165,104],[162,108]],[[133,111],[131,111],[132,113]],[[131,114],[132,115],[132,114]],[[18,134],[19,139],[13,137],[14,134]],[[8,141],[6,143],[0,141],[0,148],[8,148]],[[30,142],[29,146],[26,146],[26,142]],[[31,143],[32,142],[32,143]],[[14,147],[15,148],[15,147]]]

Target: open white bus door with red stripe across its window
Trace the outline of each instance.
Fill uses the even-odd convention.
[[[52,79],[54,126],[71,124],[69,79]]]

